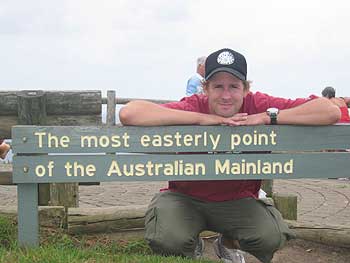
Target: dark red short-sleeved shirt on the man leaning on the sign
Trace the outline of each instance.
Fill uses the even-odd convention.
[[[248,93],[240,112],[256,114],[265,112],[270,107],[280,110],[293,108],[305,103],[308,99],[283,99],[264,93]],[[208,97],[192,95],[179,102],[163,104],[164,107],[209,114]],[[261,180],[211,180],[211,181],[170,181],[167,189],[180,192],[205,201],[228,201],[246,197],[258,197]]]

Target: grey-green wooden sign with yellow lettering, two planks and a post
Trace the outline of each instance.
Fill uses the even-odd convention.
[[[19,244],[39,244],[39,183],[348,177],[349,128],[15,126]]]

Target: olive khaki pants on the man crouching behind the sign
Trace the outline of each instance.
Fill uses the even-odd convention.
[[[210,230],[238,240],[264,263],[294,237],[278,210],[260,200],[206,202],[170,191],[152,199],[145,226],[146,241],[161,255],[193,257],[199,233]]]

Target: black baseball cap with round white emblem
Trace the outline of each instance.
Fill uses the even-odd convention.
[[[245,57],[229,48],[211,53],[205,61],[205,80],[218,72],[231,73],[240,80],[247,80],[247,62]]]

